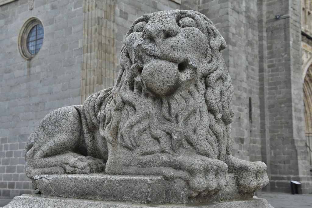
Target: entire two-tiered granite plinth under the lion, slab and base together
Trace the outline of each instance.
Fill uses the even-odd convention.
[[[41,194],[15,197],[4,208],[207,207],[273,208],[253,193],[240,193],[236,177],[213,195],[196,195],[182,179],[161,176],[61,174],[34,177]]]

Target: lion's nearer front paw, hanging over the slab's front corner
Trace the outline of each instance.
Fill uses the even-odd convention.
[[[210,195],[227,185],[227,164],[217,159],[195,159],[190,166],[190,188],[197,194]]]

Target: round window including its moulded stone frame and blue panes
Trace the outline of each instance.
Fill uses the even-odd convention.
[[[37,18],[32,17],[24,23],[18,37],[19,51],[23,58],[30,60],[39,52],[43,36],[43,26]]]

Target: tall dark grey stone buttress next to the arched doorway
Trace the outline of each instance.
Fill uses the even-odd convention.
[[[262,30],[261,130],[263,155],[270,168],[271,191],[290,192],[290,180],[311,192],[305,147],[301,69],[300,1],[261,1]],[[266,45],[264,45],[266,44]],[[263,60],[266,60],[264,62]],[[262,80],[261,80],[262,81]]]

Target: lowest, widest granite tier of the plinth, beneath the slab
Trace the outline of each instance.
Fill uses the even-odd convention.
[[[177,204],[136,204],[131,202],[116,203],[97,200],[82,200],[71,198],[41,197],[40,194],[16,196],[3,208],[273,208],[265,199],[256,197],[250,200],[208,203],[200,205]]]

